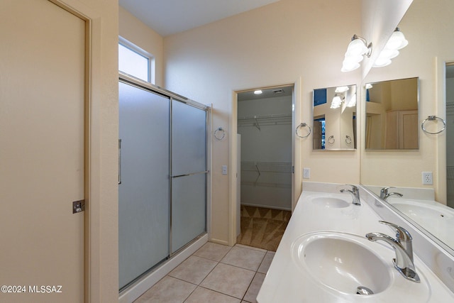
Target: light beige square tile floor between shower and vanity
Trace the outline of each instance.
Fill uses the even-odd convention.
[[[135,303],[254,303],[275,252],[208,242]]]

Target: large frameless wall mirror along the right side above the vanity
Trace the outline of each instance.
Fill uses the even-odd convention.
[[[372,84],[372,87],[367,85],[361,96],[361,102],[365,104],[361,123],[365,149],[361,150],[360,176],[360,182],[379,197],[383,187],[394,187],[388,193],[403,194],[403,197],[391,195],[383,201],[451,255],[454,255],[454,67],[451,63],[454,61],[454,18],[450,16],[453,10],[454,1],[414,0],[399,23],[409,45],[391,65],[372,68],[365,77],[362,85]],[[430,27],[423,21],[425,18],[433,21]],[[441,42],[434,48],[436,41]],[[414,76],[419,78],[409,79]],[[376,94],[375,88],[389,79],[411,80],[415,83],[411,86],[419,87],[412,89],[413,92],[399,92],[401,100],[413,96],[414,106],[377,109],[378,104],[383,103],[377,101],[377,95],[385,95],[388,89],[380,88]],[[418,97],[419,102],[416,101]],[[411,147],[395,140],[394,146],[387,149],[386,127],[383,127],[383,124],[390,124],[384,118],[387,111],[419,113],[417,145],[412,140],[409,142],[414,144]],[[382,116],[378,118],[380,113]],[[421,130],[421,123],[431,115],[445,120],[444,131],[441,131],[443,121],[440,120],[428,121],[427,126],[433,127],[431,131],[441,133],[428,134]],[[414,123],[413,118],[409,120]],[[380,131],[375,132],[374,128]],[[397,133],[394,130],[395,136]],[[414,135],[411,138],[415,138]],[[433,184],[423,184],[423,172],[433,172]],[[420,194],[427,190],[433,191],[434,198]],[[421,204],[421,200],[426,201]]]

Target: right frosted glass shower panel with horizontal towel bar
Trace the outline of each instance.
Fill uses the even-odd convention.
[[[172,100],[172,253],[206,232],[206,111]]]

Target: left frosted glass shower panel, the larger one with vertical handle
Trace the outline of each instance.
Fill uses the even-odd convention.
[[[120,289],[170,255],[170,98],[119,83]]]

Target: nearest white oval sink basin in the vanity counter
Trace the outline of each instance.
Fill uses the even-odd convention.
[[[350,233],[318,232],[292,243],[292,258],[313,279],[344,294],[366,289],[377,294],[391,283],[390,267],[361,236]]]

